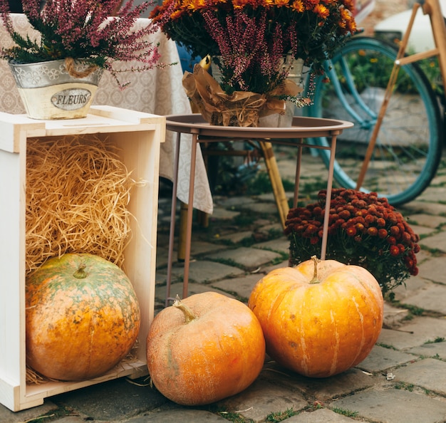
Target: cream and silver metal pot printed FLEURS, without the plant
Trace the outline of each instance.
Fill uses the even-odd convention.
[[[42,120],[86,117],[103,73],[72,59],[9,67],[28,117]]]

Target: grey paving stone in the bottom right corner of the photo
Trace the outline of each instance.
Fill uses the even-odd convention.
[[[330,408],[358,412],[380,423],[440,423],[446,419],[446,402],[405,390],[367,390],[338,399]]]

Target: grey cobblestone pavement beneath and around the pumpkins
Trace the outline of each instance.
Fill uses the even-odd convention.
[[[289,152],[279,151],[277,160],[282,177],[292,180],[294,159]],[[323,182],[325,175],[318,157],[304,155],[301,184],[306,192],[311,192],[315,182]],[[395,291],[398,306],[385,304],[385,325],[378,343],[357,367],[318,380],[266,360],[251,387],[209,407],[180,407],[150,387],[145,378],[120,379],[48,398],[43,405],[22,412],[0,406],[0,422],[277,422],[285,416],[287,423],[446,422],[445,193],[446,171],[440,169],[431,186],[400,209],[422,236],[420,273],[407,281],[407,288]],[[169,202],[163,192],[157,310],[165,298]],[[244,214],[249,219],[242,218]],[[194,227],[190,294],[217,291],[247,301],[264,273],[286,266],[288,241],[278,222],[271,194],[215,197],[209,226]],[[172,294],[181,295],[182,263],[175,263],[173,273]]]

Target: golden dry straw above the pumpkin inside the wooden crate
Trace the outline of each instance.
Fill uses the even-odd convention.
[[[26,271],[65,253],[123,265],[136,182],[107,140],[79,135],[28,140]]]

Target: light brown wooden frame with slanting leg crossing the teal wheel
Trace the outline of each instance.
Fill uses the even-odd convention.
[[[430,25],[432,27],[435,48],[433,48],[430,51],[425,51],[422,53],[414,53],[410,56],[405,56],[410,32],[412,31],[413,23],[415,21],[418,9],[420,9],[420,7],[422,7],[423,14],[429,15],[430,17]],[[373,150],[375,149],[378,132],[380,130],[381,123],[383,122],[383,118],[388,107],[390,96],[393,93],[393,87],[395,85],[395,81],[398,76],[398,71],[400,69],[400,66],[404,66],[408,63],[413,63],[433,56],[437,56],[438,58],[438,63],[440,65],[440,72],[442,75],[442,82],[443,85],[446,86],[446,25],[445,25],[445,19],[442,15],[441,6],[438,0],[418,0],[413,5],[412,16],[410,16],[408,29],[405,32],[403,40],[400,43],[398,55],[393,66],[392,73],[390,74],[388,86],[385,90],[383,104],[381,105],[380,111],[378,113],[378,119],[376,120],[375,127],[373,128],[372,136],[370,137],[367,151],[365,152],[365,157],[363,165],[361,167],[361,172],[358,176],[358,181],[356,182],[356,189],[360,189],[363,184],[368,164],[373,155]]]

